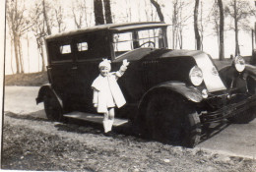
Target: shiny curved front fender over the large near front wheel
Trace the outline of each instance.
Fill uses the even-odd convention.
[[[143,102],[146,101],[147,97],[154,92],[158,92],[158,90],[173,92],[182,95],[186,99],[193,101],[193,102],[201,102],[203,100],[202,94],[200,90],[198,90],[194,86],[186,86],[184,83],[181,82],[166,82],[160,84],[159,86],[154,86],[150,90],[148,90],[142,97],[139,107],[142,105]]]

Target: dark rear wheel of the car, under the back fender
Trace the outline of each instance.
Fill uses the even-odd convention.
[[[44,97],[44,110],[46,113],[46,116],[51,121],[62,121],[63,120],[63,114],[62,114],[62,108],[53,95],[50,95],[49,93]]]

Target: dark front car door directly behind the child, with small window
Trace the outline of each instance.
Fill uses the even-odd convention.
[[[110,50],[106,31],[93,31],[78,35],[75,46],[75,106],[79,111],[95,112],[92,84],[99,75],[98,64],[109,58]]]

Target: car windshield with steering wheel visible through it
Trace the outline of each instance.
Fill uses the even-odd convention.
[[[136,48],[162,48],[163,35],[161,29],[129,30],[113,34],[114,55],[119,55]]]

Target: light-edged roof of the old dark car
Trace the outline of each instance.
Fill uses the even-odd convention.
[[[150,29],[150,28],[158,28],[158,27],[167,27],[169,25],[163,22],[139,22],[139,23],[123,23],[123,24],[106,24],[106,25],[98,25],[95,27],[85,28],[85,29],[73,29],[57,34],[52,34],[47,36],[45,39],[53,39],[57,37],[63,37],[68,35],[76,35],[84,32],[92,32],[96,30],[113,30],[113,31],[123,31],[129,29]]]

